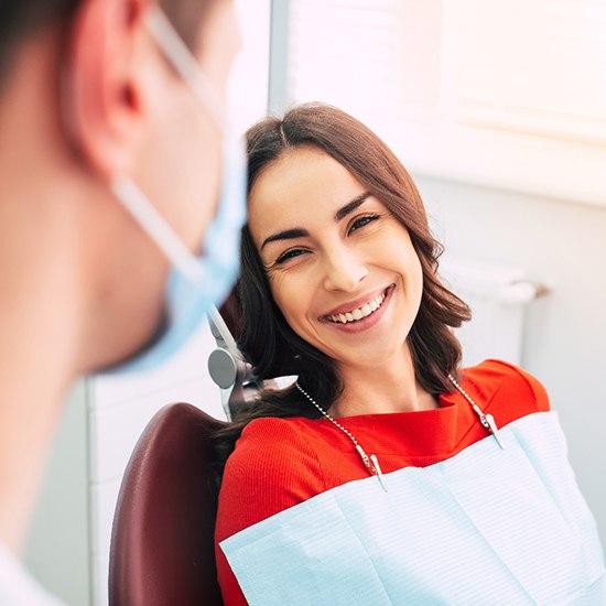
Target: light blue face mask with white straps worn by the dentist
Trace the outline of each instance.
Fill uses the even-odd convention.
[[[213,305],[220,304],[238,272],[240,228],[246,219],[247,165],[244,142],[226,126],[220,100],[199,64],[169,20],[154,9],[149,30],[167,59],[224,132],[223,192],[208,226],[203,253],[196,257],[166,220],[127,176],[116,177],[112,190],[134,219],[171,260],[166,281],[165,322],[152,344],[136,357],[107,369],[122,374],[153,368],[178,350]]]

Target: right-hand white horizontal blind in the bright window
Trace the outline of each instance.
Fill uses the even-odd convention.
[[[443,34],[445,115],[606,142],[604,0],[446,0]]]

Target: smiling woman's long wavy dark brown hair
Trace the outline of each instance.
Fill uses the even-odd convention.
[[[411,176],[365,125],[334,107],[305,104],[291,108],[282,119],[269,117],[248,130],[248,191],[284,152],[301,145],[313,145],[345,166],[409,231],[423,271],[421,305],[408,336],[415,376],[432,394],[452,391],[448,374],[456,375],[462,357],[452,328],[469,320],[470,311],[437,277],[442,247],[430,231]],[[241,314],[238,344],[255,375],[261,380],[296,375],[301,387],[328,409],[343,389],[335,362],[296,335],[284,320],[248,226],[242,228],[237,300]],[[253,419],[318,415],[294,386],[262,391],[217,434],[219,474],[242,429]]]

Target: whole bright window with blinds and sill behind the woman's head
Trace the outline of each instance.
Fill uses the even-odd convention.
[[[284,102],[418,174],[606,205],[606,0],[291,0],[286,25]]]

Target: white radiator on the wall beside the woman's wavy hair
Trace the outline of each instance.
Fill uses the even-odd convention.
[[[464,366],[487,358],[522,365],[524,324],[529,304],[547,289],[518,268],[444,261],[444,283],[472,307],[472,321],[456,331]]]

